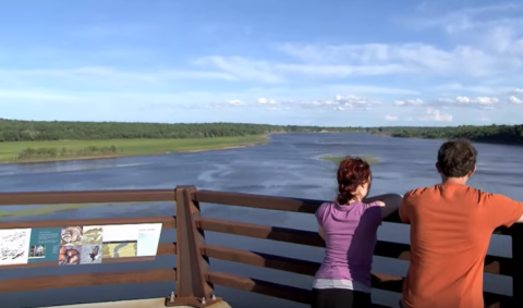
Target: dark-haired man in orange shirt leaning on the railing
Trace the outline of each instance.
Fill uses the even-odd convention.
[[[404,308],[483,308],[483,268],[494,230],[523,222],[523,204],[466,185],[476,171],[467,140],[445,143],[441,184],[405,194],[399,213],[411,224]]]

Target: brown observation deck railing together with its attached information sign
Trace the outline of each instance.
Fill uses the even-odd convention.
[[[195,186],[178,186],[174,189],[147,189],[147,190],[100,190],[100,192],[50,192],[50,193],[7,193],[0,194],[0,206],[21,206],[21,205],[53,205],[62,204],[114,204],[114,202],[157,202],[168,201],[172,202],[172,214],[165,217],[148,217],[148,218],[118,218],[118,219],[72,219],[72,220],[57,220],[57,221],[23,221],[23,222],[0,222],[0,234],[16,233],[23,236],[24,232],[31,234],[28,244],[24,244],[28,255],[27,258],[20,258],[20,254],[12,258],[8,256],[10,262],[0,262],[1,270],[8,269],[25,269],[31,271],[34,268],[58,267],[60,262],[69,262],[76,260],[74,254],[70,249],[77,249],[78,245],[60,244],[64,241],[64,226],[82,226],[83,238],[87,238],[87,229],[93,230],[97,226],[99,230],[110,230],[118,227],[132,229],[133,225],[143,226],[138,231],[137,239],[134,244],[122,244],[123,242],[100,242],[101,250],[114,243],[118,245],[136,245],[133,256],[117,256],[117,248],[114,252],[101,258],[100,263],[129,263],[129,262],[151,262],[158,256],[174,256],[175,262],[169,268],[149,269],[149,270],[132,270],[132,271],[102,271],[89,273],[72,273],[69,275],[47,275],[47,276],[31,276],[16,279],[2,279],[0,283],[0,294],[27,292],[27,291],[46,291],[54,288],[83,287],[83,286],[108,286],[108,285],[126,285],[126,284],[145,284],[154,282],[173,282],[172,292],[165,294],[165,298],[151,298],[139,300],[122,300],[111,303],[83,304],[72,306],[60,306],[61,308],[145,308],[145,307],[212,307],[212,308],[228,308],[230,307],[226,301],[232,301],[228,298],[217,297],[215,294],[215,285],[221,285],[230,288],[254,292],[271,297],[297,301],[308,305],[311,298],[311,291],[307,288],[300,288],[277,283],[275,281],[258,280],[248,276],[240,276],[227,272],[217,272],[212,270],[210,259],[220,259],[231,262],[238,262],[265,269],[279,270],[290,273],[297,273],[302,275],[314,276],[316,270],[320,266],[319,262],[309,260],[301,260],[297,258],[289,258],[276,256],[259,251],[242,250],[230,248],[226,246],[208,245],[205,239],[205,232],[217,232],[230,235],[241,235],[253,238],[260,238],[267,241],[276,241],[283,243],[293,243],[313,247],[325,247],[325,243],[317,232],[295,230],[288,227],[279,227],[267,224],[251,224],[242,222],[233,222],[218,219],[205,218],[200,212],[200,204],[215,204],[223,206],[246,207],[255,209],[266,209],[276,211],[287,211],[296,213],[313,214],[323,200],[296,199],[275,196],[260,196],[250,194],[235,194],[211,190],[198,190]],[[154,205],[153,205],[154,206]],[[393,213],[386,219],[387,222],[401,223],[398,213]],[[270,222],[268,222],[270,223]],[[123,225],[123,226],[122,226]],[[88,227],[85,227],[88,226]],[[114,229],[114,230],[115,230]],[[156,230],[158,229],[158,230]],[[149,244],[139,244],[145,241],[143,238],[153,238],[162,231],[174,230],[175,236],[168,242],[159,243],[159,235],[156,242],[156,249],[154,252],[145,250],[150,248]],[[35,234],[44,234],[44,231],[62,230],[56,238],[59,242],[49,244],[50,242],[41,242],[41,236]],[[142,232],[142,233],[141,233]],[[66,231],[66,241],[69,244],[74,244],[74,230]],[[129,232],[127,232],[129,233]],[[106,233],[104,233],[106,234]],[[109,234],[109,233],[107,233]],[[485,273],[494,275],[504,275],[512,278],[512,296],[496,294],[490,292],[484,293],[485,307],[502,307],[513,308],[523,307],[523,227],[514,224],[512,227],[499,227],[495,234],[502,236],[510,236],[512,243],[512,258],[499,257],[488,255],[485,261]],[[16,236],[19,236],[16,235]],[[14,236],[14,235],[13,235]],[[14,238],[15,237],[10,237]],[[46,241],[50,241],[50,235],[46,235]],[[109,236],[109,235],[108,235]],[[34,239],[34,238],[40,239]],[[42,238],[44,238],[42,237]],[[8,237],[2,237],[0,241],[5,241]],[[21,237],[20,237],[21,238]],[[141,239],[142,238],[142,239]],[[17,241],[17,239],[16,239]],[[22,239],[20,239],[22,241]],[[33,243],[36,241],[35,243]],[[137,241],[137,242],[136,242]],[[37,243],[38,242],[38,243]],[[153,241],[154,242],[154,241]],[[14,243],[14,242],[13,242]],[[22,242],[21,242],[22,243]],[[24,242],[25,243],[25,242]],[[58,243],[58,244],[57,244]],[[145,242],[143,242],[145,243]],[[47,246],[46,246],[47,245]],[[51,246],[53,248],[51,249]],[[58,246],[57,246],[58,245]],[[95,244],[90,244],[95,245]],[[118,246],[117,245],[117,246]],[[23,246],[23,245],[22,245]],[[34,261],[38,254],[35,252],[37,246],[46,246],[47,251],[56,250],[59,247],[62,252],[69,255],[56,255],[56,259]],[[81,246],[81,245],[80,245]],[[96,246],[96,245],[95,245]],[[121,247],[123,247],[121,246]],[[154,246],[154,245],[153,245]],[[74,248],[76,247],[76,248]],[[133,246],[135,247],[135,246]],[[14,249],[14,248],[13,248]],[[32,250],[31,250],[32,249]],[[80,249],[80,248],[78,248]],[[111,248],[112,249],[112,248]],[[142,252],[138,251],[142,249]],[[145,250],[144,250],[145,249]],[[53,250],[53,251],[54,251]],[[38,250],[39,251],[39,250]],[[82,250],[84,251],[84,250]],[[90,250],[89,250],[90,251]],[[98,254],[98,251],[96,251]],[[80,252],[78,252],[80,254]],[[82,252],[85,255],[85,251]],[[92,252],[89,252],[92,254]],[[94,252],[93,252],[94,254]],[[101,252],[100,252],[101,254]],[[41,254],[40,254],[41,255]],[[71,256],[70,256],[71,255]],[[96,255],[96,254],[94,254]],[[376,244],[375,256],[409,260],[410,245],[391,243],[386,241],[378,241]],[[31,257],[33,256],[33,258]],[[37,256],[37,257],[35,257]],[[47,256],[47,255],[46,255]],[[62,260],[63,256],[63,260]],[[41,256],[40,256],[41,257]],[[96,256],[95,256],[96,257]],[[93,257],[93,261],[95,260]],[[47,257],[46,257],[47,258]],[[60,260],[60,261],[59,261]],[[449,260],[450,262],[451,260]],[[71,261],[73,262],[73,261]],[[82,267],[82,261],[78,263]],[[87,267],[87,266],[86,266]],[[97,264],[90,264],[97,267]],[[73,267],[71,267],[73,268]],[[76,268],[76,267],[75,267]],[[174,286],[175,282],[175,286]],[[400,296],[403,278],[382,274],[378,272],[373,273],[373,288],[394,292]],[[66,293],[66,292],[65,292]],[[15,303],[5,303],[2,300],[4,308],[20,308]],[[40,307],[46,306],[41,303]],[[380,304],[374,304],[374,307],[388,307]],[[243,308],[243,307],[239,307]]]

